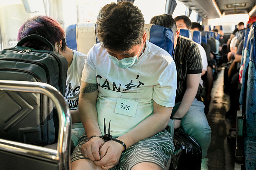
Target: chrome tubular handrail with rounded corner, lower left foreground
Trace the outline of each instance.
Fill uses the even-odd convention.
[[[0,139],[0,150],[44,161],[56,162],[59,164],[59,169],[70,170],[71,116],[62,94],[56,88],[46,83],[13,80],[0,80],[0,90],[42,93],[53,100],[59,117],[57,150],[5,139]]]

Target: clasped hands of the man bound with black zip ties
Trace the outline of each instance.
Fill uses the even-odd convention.
[[[107,141],[101,138],[91,138],[82,145],[81,152],[85,158],[94,161],[94,164],[102,169],[115,167],[119,163],[123,146],[115,141]]]

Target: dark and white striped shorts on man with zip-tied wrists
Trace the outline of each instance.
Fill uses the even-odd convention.
[[[87,141],[87,135],[84,133],[71,155],[71,162],[86,159],[81,154],[81,146]],[[151,162],[165,170],[174,149],[172,136],[166,130],[163,130],[155,136],[143,139],[127,148],[122,153],[119,164],[109,170],[130,170],[134,165],[141,162]]]

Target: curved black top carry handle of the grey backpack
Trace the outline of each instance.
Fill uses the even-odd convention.
[[[22,46],[26,42],[28,42],[29,40],[39,40],[39,41],[42,41],[42,42],[46,43],[46,45],[50,48],[50,51],[55,51],[55,47],[53,46],[52,43],[50,43],[50,41],[48,41],[46,38],[44,38],[44,37],[42,37],[40,35],[36,35],[36,34],[31,34],[31,35],[28,35],[28,36],[22,38],[17,43],[17,46]]]

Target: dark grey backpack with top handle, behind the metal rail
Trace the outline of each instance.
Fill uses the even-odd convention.
[[[22,46],[40,40],[50,50]],[[64,96],[68,62],[44,37],[29,35],[0,51],[0,80],[48,83]],[[53,102],[42,94],[0,91],[0,138],[33,145],[54,142]],[[56,123],[56,122],[55,122]]]

